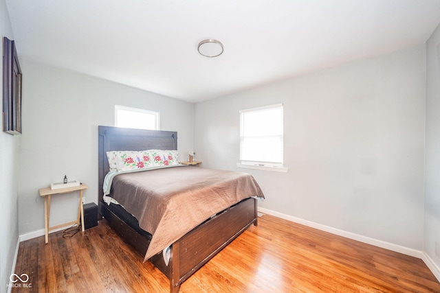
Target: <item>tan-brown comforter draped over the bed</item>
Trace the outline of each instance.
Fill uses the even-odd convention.
[[[153,235],[144,261],[232,204],[264,197],[250,174],[201,167],[120,174],[113,178],[110,196]]]

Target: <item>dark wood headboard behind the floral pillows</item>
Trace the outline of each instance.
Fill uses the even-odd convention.
[[[111,150],[177,150],[177,132],[98,126],[98,198],[102,201],[104,177]]]

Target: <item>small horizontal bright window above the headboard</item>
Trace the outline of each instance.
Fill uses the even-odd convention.
[[[115,105],[115,126],[159,130],[159,113]]]

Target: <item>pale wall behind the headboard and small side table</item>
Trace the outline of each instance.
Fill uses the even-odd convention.
[[[85,202],[98,200],[98,126],[114,125],[114,105],[160,113],[161,130],[178,132],[180,159],[193,148],[193,104],[129,86],[23,60],[20,148],[20,234],[44,228],[39,189],[69,180],[87,183]],[[78,193],[52,197],[50,224],[76,218]]]

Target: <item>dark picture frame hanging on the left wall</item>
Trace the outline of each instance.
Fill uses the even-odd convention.
[[[22,82],[14,40],[3,37],[3,131],[9,134],[21,134]]]

